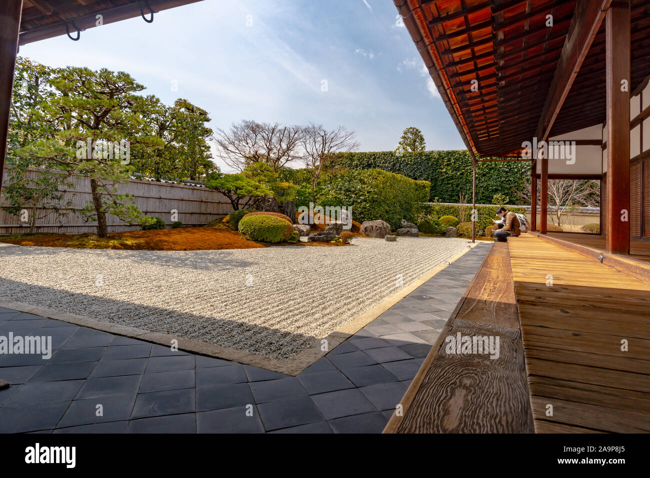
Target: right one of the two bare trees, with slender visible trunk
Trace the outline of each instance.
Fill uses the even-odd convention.
[[[336,153],[349,153],[359,147],[355,140],[356,132],[348,131],[344,126],[328,130],[323,125],[309,123],[304,127],[302,140],[302,162],[311,173],[311,192],[316,199],[318,177],[323,167]]]

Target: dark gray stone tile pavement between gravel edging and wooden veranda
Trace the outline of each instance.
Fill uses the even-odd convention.
[[[478,244],[297,377],[0,308],[0,433],[380,433],[489,251]]]

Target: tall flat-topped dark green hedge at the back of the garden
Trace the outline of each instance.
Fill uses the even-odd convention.
[[[456,203],[460,194],[471,195],[472,160],[467,150],[416,151],[398,157],[395,151],[345,153],[337,157],[344,168],[374,169],[429,181],[429,200]],[[479,162],[476,167],[476,202],[487,204],[495,194],[517,197],[525,191],[530,177],[530,161]]]

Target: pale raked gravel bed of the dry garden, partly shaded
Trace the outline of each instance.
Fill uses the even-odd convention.
[[[286,359],[468,248],[460,238],[355,238],[354,244],[226,251],[0,247],[0,297]]]

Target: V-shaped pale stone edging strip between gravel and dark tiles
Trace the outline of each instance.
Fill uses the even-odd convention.
[[[474,244],[470,243],[469,249],[465,249],[447,261],[452,264],[454,261],[458,260],[458,258],[462,257],[465,255],[465,253],[473,249],[477,244],[480,244],[480,242],[476,242]],[[171,334],[151,332],[144,329],[138,329],[136,327],[129,327],[128,325],[121,325],[118,323],[97,320],[86,316],[79,316],[77,314],[60,312],[59,310],[54,310],[52,308],[30,305],[24,302],[0,301],[0,307],[11,308],[13,310],[18,310],[19,312],[25,312],[27,314],[34,314],[37,316],[42,316],[44,318],[73,323],[81,327],[88,327],[90,329],[96,329],[98,331],[134,338],[137,340],[143,340],[144,342],[151,342],[152,344],[158,344],[165,347],[170,347],[172,340],[177,340],[178,349],[180,351],[195,353],[198,355],[206,355],[207,357],[213,357],[214,359],[228,360],[230,362],[237,362],[239,364],[255,366],[264,368],[266,370],[295,376],[316,362],[316,360],[330,353],[333,349],[335,349],[335,347],[344,342],[344,340],[350,338],[352,335],[357,333],[357,331],[363,329],[363,327],[375,320],[378,316],[383,314],[383,312],[393,307],[393,305],[404,299],[404,297],[408,296],[408,294],[411,294],[411,292],[434,277],[434,275],[436,275],[439,271],[447,268],[447,266],[450,264],[442,264],[441,266],[437,266],[436,268],[428,271],[419,279],[416,279],[408,286],[398,290],[392,296],[384,299],[379,304],[370,308],[370,310],[363,312],[363,314],[359,315],[357,318],[354,318],[352,321],[344,324],[341,328],[328,334],[328,336],[324,337],[324,340],[327,340],[328,344],[327,351],[322,351],[320,349],[320,343],[322,339],[318,339],[313,346],[300,351],[296,356],[291,357],[291,359],[285,360],[272,359],[270,357],[266,357],[265,355],[250,353],[244,350],[234,349],[232,347],[222,347],[214,344],[207,344],[205,342],[199,342],[198,340],[180,338]]]

